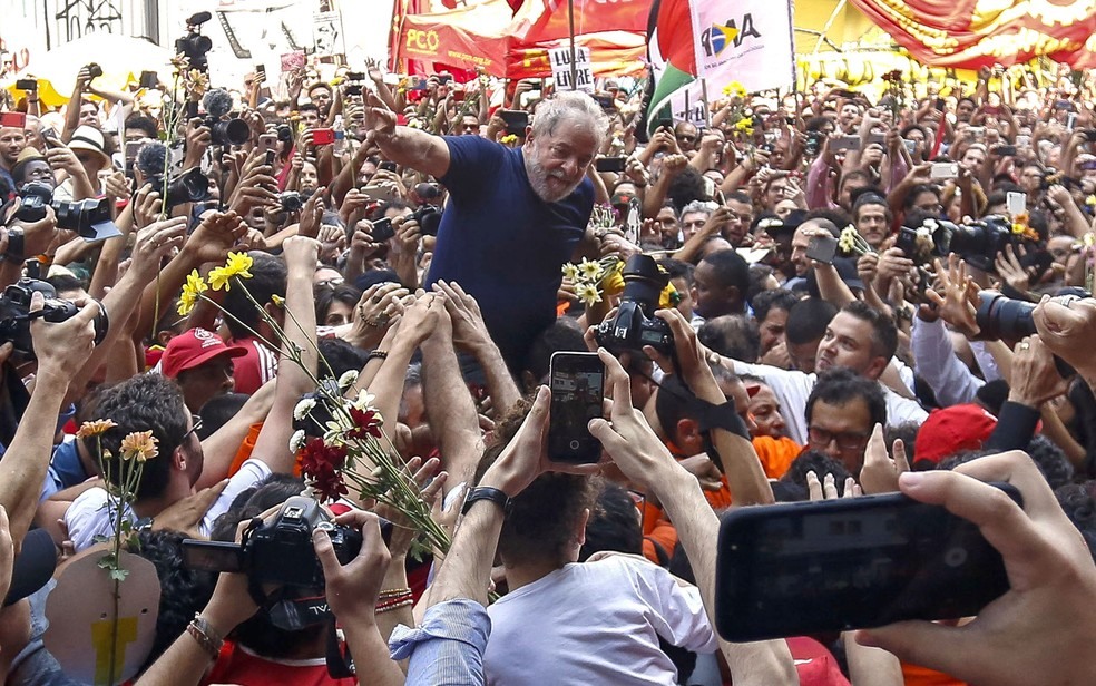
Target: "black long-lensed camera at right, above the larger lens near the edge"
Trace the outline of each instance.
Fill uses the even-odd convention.
[[[984,272],[995,272],[994,259],[1005,246],[1019,246],[1026,239],[1012,233],[1008,217],[990,215],[972,224],[952,224],[947,219],[927,218],[920,226],[903,226],[894,245],[917,264],[955,253]],[[1030,247],[1030,241],[1027,241]]]

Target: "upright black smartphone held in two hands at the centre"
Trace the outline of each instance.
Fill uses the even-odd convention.
[[[591,419],[601,416],[605,363],[597,353],[556,352],[551,355],[548,459],[589,464],[601,458],[601,443],[590,434]]]

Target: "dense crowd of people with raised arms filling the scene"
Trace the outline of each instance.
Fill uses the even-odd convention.
[[[48,600],[119,526],[160,587],[139,686],[1096,683],[1096,110],[1074,81],[728,89],[692,124],[614,79],[371,63],[280,99],[184,66],[153,101],[97,74],[0,118],[6,683],[80,683],[47,625],[85,615]],[[662,293],[622,323],[639,255]],[[604,363],[596,464],[547,454],[558,352]],[[302,618],[304,591],[185,541],[316,493],[295,429],[332,384],[369,394],[452,545],[342,493],[324,519],[361,550],[314,528]],[[140,432],[121,483],[102,464]],[[975,522],[1010,590],[958,621],[718,636],[720,513],[888,492]]]

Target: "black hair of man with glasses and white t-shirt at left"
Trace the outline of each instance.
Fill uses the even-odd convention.
[[[116,425],[95,439],[84,439],[84,447],[92,458],[101,447],[114,455],[109,459],[117,460],[126,435],[151,430],[158,455],[145,462],[137,499],[163,494],[174,469],[172,455],[187,433],[188,413],[178,384],[163,374],[138,374],[104,390],[96,400],[91,416],[112,420]],[[119,478],[120,471],[110,470],[111,478]]]

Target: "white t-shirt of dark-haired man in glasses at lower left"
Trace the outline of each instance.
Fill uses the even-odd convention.
[[[241,464],[239,471],[232,476],[228,486],[206,510],[205,517],[202,518],[199,532],[203,536],[209,536],[209,531],[213,530],[213,522],[225,513],[236,496],[270,476],[271,468],[262,460],[247,460]],[[129,508],[126,510],[126,517],[130,521],[136,521],[137,518],[133,510]],[[65,526],[68,527],[69,539],[77,552],[94,546],[97,536],[112,536],[114,520],[107,507],[107,491],[96,487],[80,493],[72,501],[72,504],[65,510]]]

